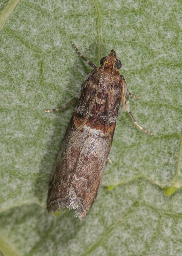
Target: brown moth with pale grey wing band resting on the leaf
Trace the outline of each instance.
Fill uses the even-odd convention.
[[[47,210],[68,207],[83,220],[93,204],[106,161],[111,149],[120,101],[132,122],[141,130],[129,109],[127,84],[119,69],[121,62],[116,52],[100,60],[96,67],[78,51],[79,56],[94,69],[85,78],[76,96],[66,105],[45,112],[68,107],[76,98],[79,101],[69,122],[60,152],[49,180]],[[135,96],[137,97],[137,96]]]

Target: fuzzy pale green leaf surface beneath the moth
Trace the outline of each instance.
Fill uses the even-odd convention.
[[[180,4],[2,1],[2,255],[181,255]],[[68,209],[46,211],[49,175],[76,102],[44,110],[72,99],[91,71],[72,42],[95,65],[116,51],[129,91],[141,97],[130,98],[130,110],[153,133],[120,110],[112,164],[82,222]]]

